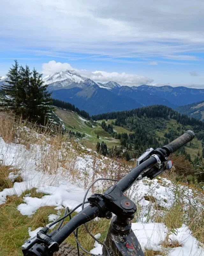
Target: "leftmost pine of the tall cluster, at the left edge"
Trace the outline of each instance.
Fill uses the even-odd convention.
[[[16,108],[16,92],[19,83],[19,66],[18,61],[14,60],[15,64],[10,68],[7,76],[8,81],[2,85],[1,106],[6,110],[15,110]]]

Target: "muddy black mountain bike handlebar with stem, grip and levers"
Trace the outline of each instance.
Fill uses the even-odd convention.
[[[194,132],[187,131],[176,140],[170,142],[168,145],[151,151],[149,158],[145,156],[145,161],[134,167],[120,181],[109,187],[106,192],[103,194],[93,194],[90,198],[88,198],[90,205],[75,215],[61,229],[53,231],[51,233],[52,235],[48,235],[48,229],[45,231],[46,228],[44,228],[44,230],[41,230],[41,233],[38,233],[37,238],[32,240],[33,244],[29,245],[27,241],[27,244],[25,243],[21,248],[23,254],[26,256],[52,255],[53,252],[58,250],[58,246],[76,228],[93,220],[97,216],[100,218],[109,219],[111,212],[113,212],[122,221],[132,219],[132,216],[136,212],[136,206],[134,202],[132,202],[128,197],[124,196],[123,193],[132,186],[135,180],[137,180],[142,173],[142,178],[148,176],[148,174],[151,172],[153,172],[151,177],[156,177],[159,173],[166,170],[163,168],[161,163],[167,161],[168,156],[170,156],[173,152],[183,147],[187,142],[193,140],[194,136]],[[147,173],[146,170],[148,170]]]

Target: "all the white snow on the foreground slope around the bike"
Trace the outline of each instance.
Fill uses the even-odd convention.
[[[69,146],[69,148],[71,148],[70,150],[74,152],[69,142],[67,142],[66,146]],[[36,188],[37,192],[44,193],[45,195],[41,198],[36,198],[27,194],[24,197],[24,203],[19,204],[17,207],[22,215],[32,216],[39,207],[46,205],[55,206],[56,210],[61,210],[67,206],[73,209],[83,201],[85,194],[84,188],[90,185],[93,178],[95,180],[103,175],[107,177],[107,166],[113,173],[117,172],[119,168],[117,163],[113,162],[113,160],[111,161],[112,165],[107,165],[106,161],[109,160],[107,157],[97,157],[97,153],[91,151],[91,155],[81,153],[75,160],[72,159],[74,161],[74,172],[76,172],[74,176],[75,179],[70,179],[69,165],[67,167],[68,169],[58,167],[57,170],[53,172],[53,170],[48,168],[49,173],[42,172],[42,170],[44,170],[42,169],[42,165],[45,164],[43,157],[47,160],[46,155],[44,156],[43,154],[50,148],[51,146],[45,143],[43,147],[37,144],[31,145],[28,150],[24,145],[5,143],[5,141],[0,138],[0,161],[3,165],[11,166],[11,172],[8,178],[14,181],[15,178],[20,175],[23,179],[22,182],[15,182],[13,188],[6,188],[0,192],[0,204],[6,202],[6,196],[20,196],[25,190]],[[85,148],[83,147],[83,149]],[[59,159],[61,159],[64,154],[66,155],[65,151],[66,150],[63,149],[57,152]],[[88,149],[87,152],[89,152]],[[18,168],[19,171],[15,172],[12,167]],[[129,167],[127,167],[127,169],[128,168]],[[127,169],[124,169],[123,173],[128,172]],[[96,189],[102,188],[102,186],[103,183],[99,182]],[[176,189],[179,189],[179,193],[176,193]],[[187,210],[189,205],[191,205],[199,211],[202,207],[200,202],[203,200],[203,198],[200,198],[198,195],[194,195],[192,189],[186,186],[176,187],[175,184],[165,178],[158,178],[151,181],[144,179],[139,181],[129,189],[128,193],[132,200],[140,206],[140,210],[138,209],[139,217],[137,216],[138,222],[132,223],[132,229],[141,243],[143,250],[160,251],[162,247],[161,244],[166,241],[165,239],[169,232],[163,223],[154,222],[152,216],[155,212],[162,214],[163,211],[157,210],[152,206],[157,204],[160,207],[171,209],[175,200],[180,200],[184,210]],[[177,194],[182,196],[177,198]],[[78,208],[77,211],[79,212],[80,210],[81,207]],[[49,221],[54,221],[59,218],[59,214],[51,214],[48,218]],[[31,231],[29,228],[29,235],[31,237],[35,236],[40,228],[34,231]],[[96,236],[99,237],[99,234]],[[202,245],[191,235],[191,231],[184,224],[181,228],[174,230],[174,232],[168,233],[168,239],[169,243],[172,241],[179,243],[179,246],[175,248],[166,249],[165,253],[168,256],[204,256]],[[101,254],[101,245],[96,242],[94,246],[95,248],[92,249],[91,252]]]

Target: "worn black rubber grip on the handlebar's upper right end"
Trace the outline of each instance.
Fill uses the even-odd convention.
[[[183,135],[181,135],[176,140],[171,141],[169,144],[165,145],[163,148],[169,151],[169,154],[172,154],[179,148],[183,147],[189,141],[193,140],[195,134],[193,131],[187,131]]]

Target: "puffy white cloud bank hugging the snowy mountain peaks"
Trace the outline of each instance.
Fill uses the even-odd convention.
[[[98,70],[97,71],[88,71],[84,69],[80,70],[77,68],[72,68],[69,63],[56,62],[55,60],[51,60],[48,63],[42,64],[42,73],[45,75],[53,74],[59,71],[65,71],[67,69],[75,70],[81,76],[88,77],[95,82],[101,82],[101,83],[114,81],[121,85],[137,86],[141,84],[149,84],[154,81],[153,79],[150,79],[146,76],[138,76],[135,74],[128,74],[125,72],[118,73],[118,72],[106,72],[106,71],[98,71]]]

